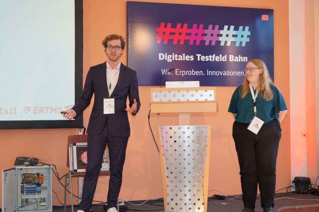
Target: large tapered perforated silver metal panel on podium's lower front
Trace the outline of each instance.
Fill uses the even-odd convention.
[[[167,211],[204,212],[209,125],[159,126],[159,130],[167,177]]]

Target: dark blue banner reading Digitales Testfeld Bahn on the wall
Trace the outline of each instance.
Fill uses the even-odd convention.
[[[253,58],[274,72],[273,10],[127,2],[128,66],[139,85],[237,86]],[[165,84],[164,84],[165,85]]]

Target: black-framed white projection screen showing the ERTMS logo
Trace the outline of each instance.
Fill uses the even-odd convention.
[[[82,0],[0,1],[0,129],[82,128]]]

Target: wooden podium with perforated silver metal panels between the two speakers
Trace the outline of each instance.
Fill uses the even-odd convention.
[[[215,87],[151,89],[152,113],[178,113],[179,125],[158,127],[165,212],[207,211],[211,126],[190,113],[217,112],[215,99]]]

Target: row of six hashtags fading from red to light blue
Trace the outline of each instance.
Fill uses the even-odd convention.
[[[220,45],[230,46],[235,43],[235,46],[246,46],[249,42],[250,31],[249,26],[240,26],[238,31],[234,30],[234,26],[225,25],[224,30],[219,30],[219,25],[208,25],[208,29],[204,29],[204,24],[193,24],[192,29],[187,29],[188,24],[177,24],[176,28],[172,28],[172,23],[161,23],[160,27],[156,28],[158,34],[155,35],[157,44],[167,44],[169,40],[173,40],[173,44],[183,45],[185,40],[189,40],[189,45],[199,45],[202,40],[205,41],[205,45],[216,45],[216,41],[220,41]],[[228,29],[229,28],[229,29]],[[178,42],[179,41],[179,42]]]

